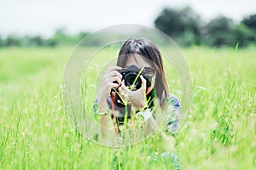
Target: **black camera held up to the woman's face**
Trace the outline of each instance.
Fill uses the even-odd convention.
[[[123,79],[125,79],[125,86],[130,87],[131,90],[137,90],[142,87],[142,80],[140,78],[140,75],[143,75],[144,79],[146,80],[147,88],[151,86],[152,77],[148,75],[145,71],[141,71],[139,68],[137,68],[136,65],[130,65],[128,68],[124,68],[118,71],[122,75]],[[140,75],[138,75],[139,73]]]

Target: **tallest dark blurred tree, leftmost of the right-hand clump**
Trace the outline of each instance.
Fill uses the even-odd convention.
[[[192,8],[164,8],[154,20],[154,25],[178,42],[183,42],[183,45],[200,42],[201,18]]]

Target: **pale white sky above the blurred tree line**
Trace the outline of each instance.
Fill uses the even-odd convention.
[[[50,37],[59,28],[73,34],[119,24],[154,26],[163,8],[185,6],[206,21],[223,14],[239,22],[256,14],[255,0],[0,0],[0,36]]]

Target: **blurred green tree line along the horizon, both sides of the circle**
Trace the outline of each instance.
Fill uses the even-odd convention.
[[[234,47],[239,44],[239,47],[246,47],[256,43],[256,14],[245,16],[239,23],[223,15],[205,22],[192,8],[163,8],[154,20],[154,26],[181,46]],[[55,34],[49,38],[15,35],[3,38],[0,36],[0,47],[74,45],[88,34],[89,32],[83,31],[76,35],[69,35],[62,28],[55,31]],[[90,45],[97,45],[100,42],[101,40],[97,39]]]

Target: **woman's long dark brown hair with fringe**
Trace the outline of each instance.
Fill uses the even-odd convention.
[[[163,96],[167,96],[168,89],[160,50],[148,39],[129,38],[120,48],[119,58],[116,65],[124,67],[126,60],[131,57],[131,54],[133,54],[134,57],[134,54],[139,54],[146,59],[149,59],[152,64],[154,64],[153,66],[156,70],[156,77],[153,90],[156,97],[160,99],[160,106],[164,107]]]

